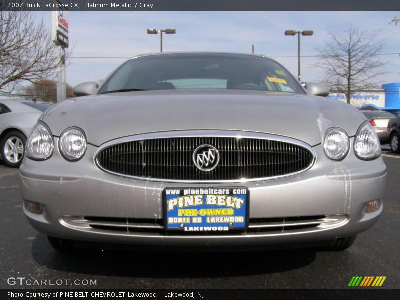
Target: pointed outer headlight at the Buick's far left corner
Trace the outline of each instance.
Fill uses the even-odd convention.
[[[53,151],[54,140],[50,129],[38,122],[26,142],[26,156],[34,160],[45,160],[51,157]]]

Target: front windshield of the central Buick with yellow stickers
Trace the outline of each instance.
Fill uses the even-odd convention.
[[[99,93],[157,89],[250,89],[302,93],[277,62],[238,54],[164,54],[131,59]]]

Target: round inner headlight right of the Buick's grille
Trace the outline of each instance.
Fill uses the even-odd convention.
[[[332,160],[343,159],[350,147],[350,141],[347,132],[341,128],[333,127],[326,131],[323,148],[326,156]]]

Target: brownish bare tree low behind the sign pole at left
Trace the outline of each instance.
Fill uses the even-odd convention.
[[[66,97],[73,97],[73,87],[66,84]],[[33,100],[43,102],[57,102],[57,83],[51,79],[39,79],[34,83],[24,87],[23,95],[21,96],[23,99]]]

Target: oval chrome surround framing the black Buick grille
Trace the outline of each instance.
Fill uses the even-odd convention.
[[[235,180],[172,180],[172,179],[158,179],[158,178],[151,178],[151,177],[138,177],[138,176],[130,176],[124,175],[120,173],[115,173],[109,170],[102,168],[97,160],[98,154],[113,145],[130,142],[130,141],[137,141],[137,140],[146,140],[146,139],[157,139],[157,138],[176,138],[176,137],[235,137],[235,138],[254,138],[254,139],[267,139],[267,140],[274,140],[280,142],[287,142],[291,143],[300,147],[303,147],[310,151],[313,156],[312,162],[310,165],[298,172],[285,174],[281,176],[273,176],[273,177],[263,177],[263,178],[252,178],[252,179],[235,179]],[[228,130],[184,130],[184,131],[165,131],[165,132],[155,132],[155,133],[144,133],[132,136],[126,136],[118,139],[111,140],[109,142],[103,143],[101,146],[98,147],[96,152],[93,156],[94,164],[101,170],[106,173],[117,175],[119,177],[125,178],[132,178],[137,180],[144,180],[144,181],[154,181],[154,182],[179,182],[179,183],[245,183],[245,182],[254,182],[254,181],[265,181],[277,178],[284,178],[288,176],[297,175],[309,170],[316,162],[316,152],[315,150],[307,143],[300,141],[298,139],[281,136],[281,135],[274,135],[268,133],[258,133],[258,132],[250,132],[250,131],[228,131]]]

